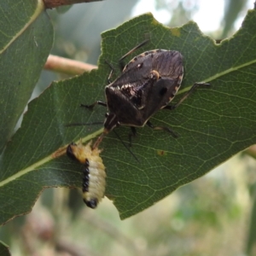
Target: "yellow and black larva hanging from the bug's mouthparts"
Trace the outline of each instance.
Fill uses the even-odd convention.
[[[83,145],[71,143],[67,146],[67,155],[83,164],[83,199],[87,207],[96,208],[104,197],[106,188],[106,172],[100,157],[101,149],[91,149],[91,142]]]

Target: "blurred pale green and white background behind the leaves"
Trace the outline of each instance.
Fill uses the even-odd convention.
[[[166,26],[195,20],[222,40],[241,26],[247,9],[253,1],[108,0],[49,10],[51,53],[96,65],[101,32],[148,11]],[[66,78],[43,71],[33,97]],[[0,239],[17,256],[256,255],[255,188],[255,159],[244,152],[124,221],[107,198],[91,210],[77,189],[45,189],[30,214],[0,229]]]

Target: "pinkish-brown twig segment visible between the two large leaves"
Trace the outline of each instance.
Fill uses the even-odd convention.
[[[44,65],[44,69],[69,75],[79,75],[84,73],[84,71],[90,71],[95,68],[97,68],[95,65],[86,64],[81,61],[73,61],[55,55],[49,55]]]

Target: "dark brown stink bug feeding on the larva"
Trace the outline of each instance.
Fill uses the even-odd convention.
[[[110,78],[113,67],[109,64],[112,71],[108,76],[109,84],[105,87],[107,103],[97,101],[91,105],[82,105],[86,108],[93,108],[99,104],[108,108],[104,131],[96,140],[93,148],[101,143],[102,138],[109,131],[119,125],[131,126],[134,135],[136,134],[135,127],[148,125],[154,129],[169,131],[177,137],[170,128],[154,126],[148,119],[162,108],[177,108],[197,85],[203,83],[194,84],[176,105],[168,105],[176,95],[183,79],[183,56],[178,51],[149,50],[137,55],[123,68],[122,61],[125,57],[147,42],[148,40],[137,45],[119,60],[122,73],[112,83]]]

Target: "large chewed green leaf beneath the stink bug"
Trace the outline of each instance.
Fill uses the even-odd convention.
[[[113,132],[103,139],[100,148],[104,149],[102,159],[107,167],[106,195],[120,217],[143,211],[255,143],[255,22],[256,12],[251,10],[236,35],[220,45],[203,36],[194,22],[170,29],[149,14],[104,32],[97,70],[53,83],[29,104],[22,127],[8,144],[1,162],[1,223],[29,212],[45,187],[81,186],[82,166],[65,154],[58,156],[65,153],[68,143],[80,137],[84,143],[97,137],[102,125],[66,125],[104,120],[105,108],[96,106],[90,111],[79,108],[80,103],[104,101],[109,73],[105,60],[113,64],[114,75],[118,76],[119,58],[143,42],[148,33],[150,43],[131,58],[157,48],[176,49],[183,54],[183,84],[173,102],[195,82],[206,81],[211,86],[195,90],[177,109],[159,111],[150,119],[154,125],[172,127],[179,135],[177,139],[148,127],[137,129],[131,150],[139,163]],[[115,131],[128,143],[129,127]]]

